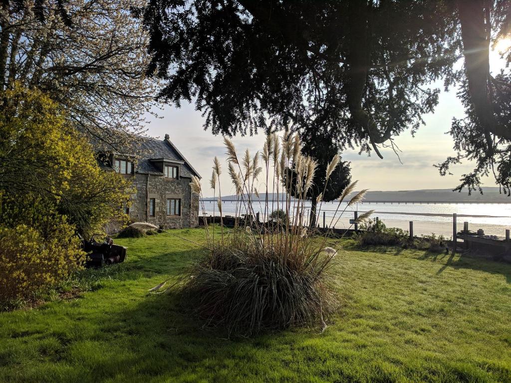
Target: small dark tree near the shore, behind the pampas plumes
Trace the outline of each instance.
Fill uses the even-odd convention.
[[[317,162],[317,170],[314,173],[313,183],[305,196],[305,199],[311,201],[311,211],[309,225],[316,226],[317,221],[317,203],[324,201],[329,202],[338,198],[344,188],[350,184],[350,162],[339,160],[338,165],[333,169],[332,174],[329,176],[327,182],[328,164],[332,161],[334,156],[339,154],[339,149],[333,143],[332,138],[328,135],[317,132],[312,139],[309,137],[303,140],[303,147],[301,152],[304,155],[310,156]],[[296,170],[287,169],[284,175],[283,184],[287,188],[287,192],[299,198],[296,190]],[[289,182],[291,181],[291,182]]]

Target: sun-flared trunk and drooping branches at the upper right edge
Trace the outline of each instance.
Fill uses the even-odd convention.
[[[464,68],[460,71],[458,93],[466,117],[454,119],[450,134],[454,138],[455,157],[436,165],[441,175],[449,173],[452,164],[464,159],[475,162],[469,174],[463,174],[456,188],[481,189],[481,176],[493,174],[511,195],[511,77],[502,70],[490,73],[490,47],[511,32],[511,5],[506,1],[469,0],[456,2],[461,27]],[[493,25],[492,25],[493,23]],[[493,28],[493,30],[492,30]],[[508,51],[507,63],[511,62]]]

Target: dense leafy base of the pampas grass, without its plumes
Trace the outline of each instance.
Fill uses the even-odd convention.
[[[305,241],[298,252],[286,252],[282,241],[261,255],[251,234],[231,235],[236,237],[224,238],[224,245],[192,267],[184,286],[187,301],[206,323],[250,335],[323,324],[332,314],[331,253],[303,251]]]

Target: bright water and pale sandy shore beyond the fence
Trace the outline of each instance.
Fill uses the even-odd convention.
[[[218,215],[216,202],[204,201],[204,207],[207,214],[213,214],[213,205],[215,213]],[[223,202],[223,214],[235,215],[235,202]],[[321,212],[318,216],[318,223],[323,224],[323,211],[326,213],[326,224],[331,225],[334,212],[338,202],[323,202]],[[258,202],[253,204],[254,212],[261,213],[263,219],[264,205]],[[270,202],[270,210],[272,204]],[[273,203],[276,209],[276,202]],[[319,208],[319,205],[318,205]],[[342,203],[340,210],[346,208]],[[486,234],[504,236],[504,230],[511,228],[511,203],[359,203],[352,207],[347,207],[336,227],[347,228],[350,226],[350,218],[354,218],[354,211],[361,213],[374,209],[373,217],[378,217],[387,226],[409,228],[409,221],[413,221],[414,233],[416,234],[436,234],[452,235],[453,213],[457,214],[457,228],[463,228],[463,222],[469,222],[469,229],[477,230],[482,228]],[[305,216],[310,211],[310,202],[305,205]],[[245,213],[245,211],[242,211]],[[339,217],[339,213],[337,216]]]

